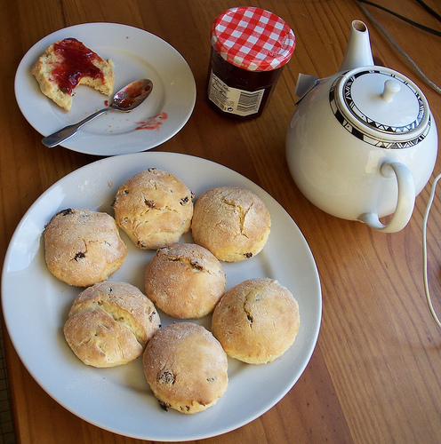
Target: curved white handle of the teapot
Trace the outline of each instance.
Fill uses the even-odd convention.
[[[407,225],[413,213],[413,207],[415,205],[415,184],[413,182],[412,172],[403,163],[397,162],[383,163],[380,171],[384,177],[390,177],[392,171],[395,172],[397,176],[397,209],[387,225],[381,224],[376,213],[365,213],[358,219],[361,222],[365,222],[366,225],[374,230],[382,231],[383,233],[396,233]]]

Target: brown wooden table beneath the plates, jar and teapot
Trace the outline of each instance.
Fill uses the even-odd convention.
[[[380,3],[380,0],[379,0]],[[441,13],[437,0],[427,3]],[[397,8],[392,0],[381,2]],[[0,218],[2,264],[12,233],[28,207],[58,179],[97,160],[64,148],[48,149],[21,115],[13,80],[20,59],[44,36],[67,26],[107,21],[143,28],[172,44],[196,79],[193,115],[172,139],[154,148],[221,163],[264,188],[291,215],[309,242],[323,291],[317,346],[293,389],[267,413],[236,431],[204,442],[436,443],[441,442],[441,331],[432,320],[422,279],[421,226],[429,185],[413,218],[397,234],[318,210],[299,192],[285,160],[285,133],[294,110],[297,75],[338,70],[352,20],[367,24],[373,55],[417,83],[438,128],[441,98],[414,73],[360,7],[349,0],[259,0],[253,5],[283,17],[297,36],[293,59],[257,120],[236,123],[205,99],[210,27],[230,0],[95,0],[4,2],[0,14]],[[441,84],[441,40],[373,6],[366,6],[419,67]],[[431,28],[441,24],[412,0],[400,12]],[[439,130],[438,130],[439,131]],[[429,285],[441,313],[441,202],[429,218]],[[32,334],[32,332],[29,332]],[[52,400],[21,364],[10,339],[5,349],[17,440],[23,443],[134,443],[88,424]],[[202,441],[200,441],[202,442]]]

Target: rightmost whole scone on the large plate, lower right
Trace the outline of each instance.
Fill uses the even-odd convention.
[[[300,326],[299,305],[288,289],[255,278],[229,289],[212,313],[212,334],[239,361],[264,364],[293,345]]]

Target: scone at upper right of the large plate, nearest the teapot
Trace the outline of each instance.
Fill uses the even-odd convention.
[[[226,262],[253,258],[268,241],[269,210],[252,191],[221,186],[205,191],[195,203],[194,242]]]

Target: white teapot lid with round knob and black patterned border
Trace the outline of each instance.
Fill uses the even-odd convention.
[[[347,131],[378,147],[413,147],[429,132],[427,99],[411,80],[387,67],[361,67],[339,76],[330,102]]]

